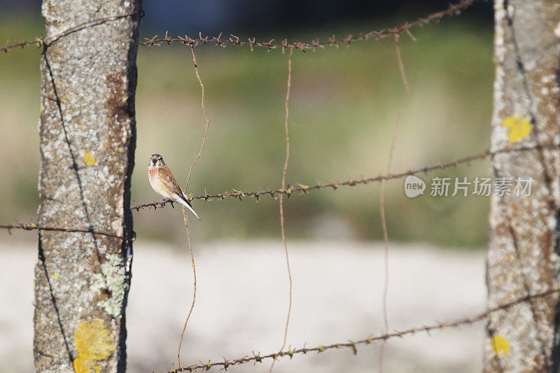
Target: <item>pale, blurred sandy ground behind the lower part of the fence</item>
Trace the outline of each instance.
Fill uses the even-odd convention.
[[[294,281],[288,345],[318,346],[377,335],[383,329],[383,251],[378,243],[288,241]],[[130,372],[176,363],[190,307],[186,249],[135,244],[127,309]],[[195,248],[197,303],[183,342],[183,365],[278,351],[288,307],[281,242],[216,242]],[[34,241],[0,239],[0,372],[31,372]],[[484,252],[391,245],[390,329],[451,321],[484,310]],[[390,339],[386,372],[479,372],[483,324]],[[274,372],[376,372],[379,343],[294,356]],[[267,372],[269,363],[230,367]],[[215,369],[218,372],[217,369]]]

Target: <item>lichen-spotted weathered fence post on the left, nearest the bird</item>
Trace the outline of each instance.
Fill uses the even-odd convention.
[[[140,8],[141,0],[43,0],[39,225],[132,238]],[[39,233],[38,372],[124,372],[131,260],[129,239]]]

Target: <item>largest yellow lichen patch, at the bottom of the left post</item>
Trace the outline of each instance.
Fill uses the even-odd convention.
[[[111,344],[109,330],[99,318],[80,323],[74,339],[78,349],[78,358],[73,364],[76,373],[99,373],[102,360],[109,358],[117,347]]]

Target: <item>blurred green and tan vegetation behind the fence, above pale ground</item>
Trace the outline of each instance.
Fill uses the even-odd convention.
[[[0,16],[0,41],[34,38],[41,20]],[[372,21],[339,29],[293,34],[310,40],[335,32],[378,29]],[[398,22],[392,22],[397,24]],[[404,35],[402,59],[412,90],[397,129],[392,171],[448,162],[489,145],[492,109],[492,30],[445,19]],[[282,34],[283,35],[283,34]],[[13,39],[17,36],[18,39]],[[262,40],[265,40],[263,37]],[[267,39],[268,40],[268,39]],[[35,219],[39,154],[41,50],[29,47],[0,55],[0,219]],[[197,48],[211,120],[207,146],[190,182],[195,195],[207,192],[279,188],[285,156],[284,99],[288,56],[279,50]],[[344,181],[386,171],[391,136],[405,102],[392,39],[352,43],[349,48],[294,51],[290,96],[290,163],[287,183]],[[193,162],[204,130],[200,86],[190,50],[139,50],[137,164],[132,198],[151,202],[158,195],[148,183],[152,153],[161,153],[179,183]],[[488,197],[430,197],[433,176],[490,176],[489,160],[419,175],[425,195],[409,199],[404,180],[388,182],[386,217],[391,240],[440,246],[484,246]],[[278,202],[271,197],[193,202],[202,223],[193,220],[197,240],[279,238]],[[285,204],[288,239],[381,239],[379,184],[294,195]],[[184,243],[179,209],[134,213],[139,239]]]

